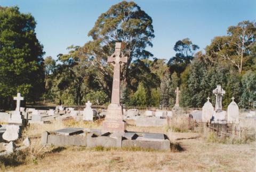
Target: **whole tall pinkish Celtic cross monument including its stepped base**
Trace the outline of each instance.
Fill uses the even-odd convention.
[[[124,132],[126,125],[123,121],[120,105],[120,65],[127,63],[127,57],[121,52],[122,43],[116,43],[115,52],[108,57],[108,62],[114,66],[111,104],[108,106],[106,118],[102,122],[103,131]]]

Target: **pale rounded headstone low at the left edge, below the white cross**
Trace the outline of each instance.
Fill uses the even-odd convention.
[[[10,142],[15,141],[19,138],[20,126],[18,125],[7,125],[6,131],[3,134],[3,139]]]

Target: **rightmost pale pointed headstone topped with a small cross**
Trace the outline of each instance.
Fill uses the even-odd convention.
[[[232,97],[232,102],[228,105],[228,122],[236,123],[239,122],[239,108],[236,102],[234,101],[234,97]]]

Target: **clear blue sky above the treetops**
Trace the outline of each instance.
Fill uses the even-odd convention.
[[[57,59],[69,45],[84,45],[87,33],[99,15],[120,1],[83,0],[0,0],[1,6],[17,5],[31,13],[36,21],[37,38],[44,45],[45,56]],[[228,26],[243,20],[255,21],[255,0],[138,0],[134,1],[152,19],[155,30],[153,47],[156,58],[170,59],[173,46],[190,38],[204,50],[214,36],[226,35]]]

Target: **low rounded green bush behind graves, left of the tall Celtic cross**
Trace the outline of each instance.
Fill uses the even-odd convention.
[[[93,91],[85,95],[83,102],[90,101],[93,105],[102,105],[108,101],[108,96],[103,91]]]

